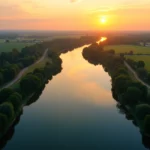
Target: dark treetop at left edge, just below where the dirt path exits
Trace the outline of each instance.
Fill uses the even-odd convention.
[[[14,90],[11,88],[5,88],[3,90],[0,91],[0,104],[5,102],[6,99],[12,94],[14,93]]]

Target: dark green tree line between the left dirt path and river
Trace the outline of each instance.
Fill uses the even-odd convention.
[[[36,68],[25,75],[17,88],[5,88],[0,91],[0,136],[6,132],[15,120],[26,100],[39,91],[53,75],[62,69],[62,60],[58,55],[49,56],[53,63],[47,62],[43,68]]]

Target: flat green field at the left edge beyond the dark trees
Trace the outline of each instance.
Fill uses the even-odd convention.
[[[18,43],[18,42],[10,42],[10,43],[4,43],[0,42],[0,52],[9,52],[13,48],[18,49],[19,51],[28,45],[32,45],[33,43]]]

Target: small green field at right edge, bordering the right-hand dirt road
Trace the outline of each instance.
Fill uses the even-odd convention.
[[[150,72],[150,56],[126,56],[126,58],[133,59],[135,61],[143,60],[145,62],[145,68]]]

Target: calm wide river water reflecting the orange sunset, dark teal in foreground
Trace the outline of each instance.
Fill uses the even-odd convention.
[[[24,108],[5,150],[145,150],[139,129],[116,107],[110,77],[82,49],[61,55],[62,72]]]

